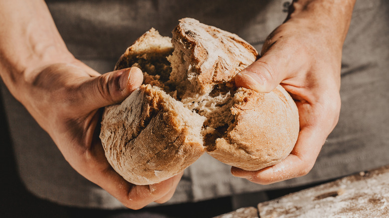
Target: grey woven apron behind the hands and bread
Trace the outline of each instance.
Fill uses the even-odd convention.
[[[47,0],[70,52],[100,73],[151,27],[161,35],[183,17],[238,34],[261,50],[266,36],[286,15],[286,0]],[[230,166],[203,155],[185,170],[168,203],[296,187],[389,164],[389,2],[357,0],[342,60],[342,109],[312,171],[272,185],[230,174]],[[318,45],[320,46],[320,45]],[[298,57],[296,57],[298,59]],[[66,206],[117,209],[124,206],[79,175],[46,132],[1,83],[16,165],[27,190]],[[240,198],[243,199],[243,198]]]

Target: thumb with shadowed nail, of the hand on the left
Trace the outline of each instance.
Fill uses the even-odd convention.
[[[82,85],[83,105],[90,111],[116,104],[126,99],[142,82],[143,73],[137,67],[93,77]]]

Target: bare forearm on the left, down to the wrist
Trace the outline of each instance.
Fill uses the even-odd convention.
[[[21,100],[36,69],[71,61],[43,0],[0,0],[0,76]]]

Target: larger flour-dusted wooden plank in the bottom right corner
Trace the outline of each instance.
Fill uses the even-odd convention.
[[[258,204],[260,218],[389,218],[389,166]]]

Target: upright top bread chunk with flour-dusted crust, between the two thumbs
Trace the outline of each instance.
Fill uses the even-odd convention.
[[[185,89],[183,98],[192,96],[193,90],[210,93],[214,85],[230,81],[259,56],[254,47],[236,34],[202,24],[193,18],[180,20],[173,30],[172,43],[175,51],[182,51],[184,60],[181,64],[188,65],[185,81],[189,80],[190,84],[183,83],[180,76],[176,78],[176,74],[182,72],[175,72],[175,69],[181,66],[172,63],[171,80],[178,89]],[[194,88],[185,88],[189,85]]]

